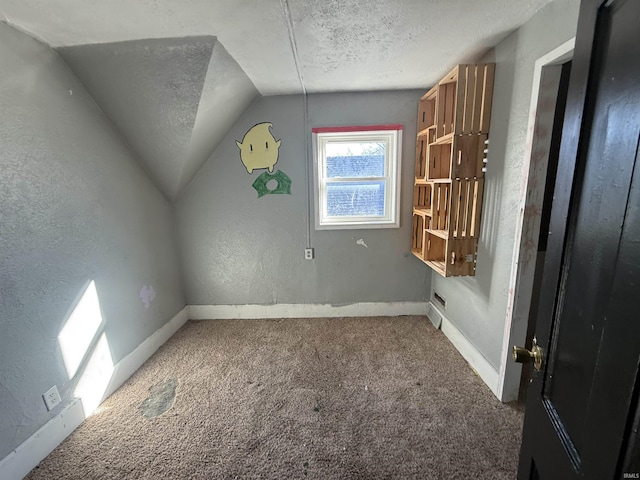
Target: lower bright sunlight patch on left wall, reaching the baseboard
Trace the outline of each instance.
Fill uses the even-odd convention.
[[[91,354],[73,394],[82,401],[85,417],[91,415],[102,402],[113,375],[113,359],[107,336],[103,333]]]

